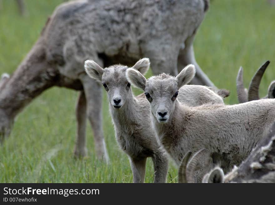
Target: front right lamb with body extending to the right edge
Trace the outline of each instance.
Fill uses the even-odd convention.
[[[192,80],[193,65],[176,77],[163,73],[146,80],[131,68],[126,75],[145,92],[158,140],[178,165],[188,150],[205,148],[212,154],[213,164],[220,163],[227,172],[248,156],[275,120],[275,99],[195,108],[180,103],[178,90]]]

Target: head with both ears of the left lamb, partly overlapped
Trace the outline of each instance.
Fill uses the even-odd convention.
[[[149,66],[149,59],[143,58],[139,60],[132,69],[145,74]],[[86,60],[84,67],[91,78],[103,84],[103,87],[107,91],[109,102],[113,108],[121,108],[125,102],[127,102],[129,95],[132,95],[131,84],[126,78],[127,66],[113,65],[103,69],[93,60]]]

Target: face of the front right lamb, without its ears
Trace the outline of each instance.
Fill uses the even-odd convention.
[[[145,95],[150,102],[151,112],[159,123],[166,123],[175,109],[178,83],[173,76],[161,74],[148,79]]]

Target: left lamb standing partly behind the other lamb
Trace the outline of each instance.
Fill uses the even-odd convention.
[[[132,69],[145,74],[150,66],[148,58],[139,60]],[[107,91],[109,109],[120,148],[129,156],[133,172],[133,182],[143,182],[147,157],[152,157],[154,182],[164,183],[168,171],[168,160],[160,149],[150,119],[150,105],[144,94],[134,96],[131,84],[126,78],[127,66],[113,65],[103,69],[93,60],[85,61],[87,74],[103,84]],[[197,90],[196,96],[191,91]],[[203,103],[223,104],[222,97],[205,86],[187,85],[180,91],[189,106]]]

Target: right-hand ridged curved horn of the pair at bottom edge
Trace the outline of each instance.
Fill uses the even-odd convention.
[[[186,179],[188,181],[188,183],[195,183],[194,182],[194,172],[196,170],[197,164],[199,159],[203,156],[209,154],[209,151],[207,149],[202,149],[200,151],[198,151],[190,160],[188,167],[187,167],[187,174],[186,174]]]

